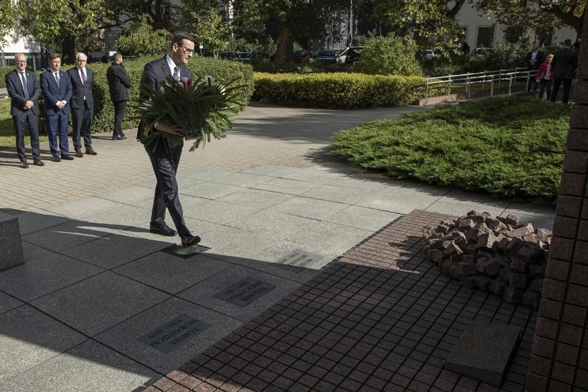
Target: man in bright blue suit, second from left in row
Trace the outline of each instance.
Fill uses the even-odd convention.
[[[41,92],[45,98],[43,107],[47,124],[49,126],[49,148],[53,161],[61,159],[68,161],[74,159],[70,154],[68,144],[68,119],[72,97],[72,84],[67,72],[61,68],[61,56],[52,53],[49,56],[50,69],[41,74]],[[59,135],[59,149],[57,148],[57,135]],[[61,150],[61,158],[59,157]]]

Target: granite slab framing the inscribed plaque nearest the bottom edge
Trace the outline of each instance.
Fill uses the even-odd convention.
[[[137,340],[180,314],[204,321],[210,325],[210,328],[198,333],[185,344],[178,345],[177,349],[170,353],[162,353],[153,346]],[[198,306],[173,297],[104,331],[97,335],[96,340],[165,374],[177,369],[193,357],[194,353],[204,351],[241,324],[239,320],[210,310],[208,306]]]

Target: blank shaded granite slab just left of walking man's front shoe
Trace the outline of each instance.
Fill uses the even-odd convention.
[[[111,269],[168,246],[169,242],[134,237],[121,232],[66,249],[63,253],[88,264]]]

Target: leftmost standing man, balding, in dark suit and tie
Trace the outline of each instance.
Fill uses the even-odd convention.
[[[35,74],[26,70],[26,56],[23,53],[14,55],[14,65],[17,67],[6,74],[6,90],[10,97],[10,115],[17,135],[17,153],[21,161],[21,168],[28,168],[24,145],[25,126],[28,124],[30,147],[32,148],[32,163],[44,166],[39,153],[39,82]]]

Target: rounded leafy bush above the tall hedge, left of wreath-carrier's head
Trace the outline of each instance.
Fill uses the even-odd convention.
[[[166,30],[153,30],[150,17],[141,15],[123,30],[115,42],[115,48],[125,56],[149,56],[165,53],[170,46],[171,35]]]

